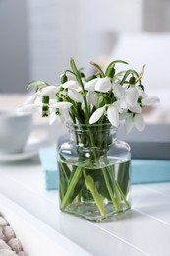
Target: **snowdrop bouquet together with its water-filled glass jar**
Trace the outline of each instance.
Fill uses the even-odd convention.
[[[144,66],[140,73],[117,72],[117,64],[128,63],[115,60],[103,71],[90,62],[96,71],[86,78],[73,58],[70,64],[57,85],[30,82],[35,94],[22,109],[37,109],[50,124],[69,121],[74,136],[58,149],[60,209],[101,221],[130,209],[130,147],[115,139],[115,131],[123,120],[127,133],[133,126],[142,131],[142,108],[158,98],[144,90]]]

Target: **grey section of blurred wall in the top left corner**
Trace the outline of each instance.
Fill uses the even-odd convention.
[[[27,1],[0,1],[0,93],[25,92],[29,78]]]

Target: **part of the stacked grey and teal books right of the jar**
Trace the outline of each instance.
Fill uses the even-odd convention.
[[[148,124],[129,135],[121,126],[119,138],[131,146],[133,184],[170,181],[170,124]]]

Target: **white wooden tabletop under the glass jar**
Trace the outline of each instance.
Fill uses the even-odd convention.
[[[134,185],[132,210],[116,221],[103,223],[62,213],[58,191],[45,190],[44,173],[37,157],[0,163],[0,193],[0,211],[2,208],[15,230],[22,234],[20,238],[29,256],[46,255],[44,248],[43,253],[37,254],[37,248],[43,246],[40,240],[35,246],[31,228],[40,232],[46,246],[52,248],[49,256],[170,255],[170,183]],[[9,214],[11,211],[13,215]],[[12,218],[17,213],[18,222]]]

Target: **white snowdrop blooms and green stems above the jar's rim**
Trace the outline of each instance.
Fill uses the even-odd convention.
[[[80,124],[111,123],[118,127],[125,121],[127,133],[135,126],[139,131],[145,127],[142,108],[159,101],[148,96],[142,85],[142,71],[127,69],[116,72],[116,64],[127,65],[126,61],[112,61],[105,72],[94,62],[96,72],[85,78],[82,69],[78,69],[71,58],[71,70],[66,70],[61,81],[49,85],[44,81],[32,81],[37,86],[35,95],[28,97],[23,111],[39,110],[42,117],[49,117],[53,124],[57,119]]]

